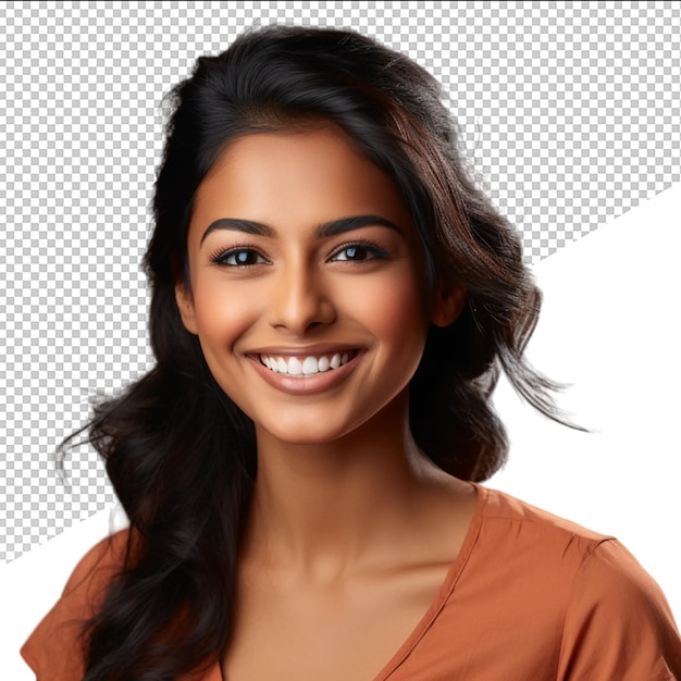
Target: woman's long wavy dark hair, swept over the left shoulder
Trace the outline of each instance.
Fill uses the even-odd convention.
[[[439,86],[408,58],[347,30],[270,26],[198,60],[172,91],[145,268],[154,368],[95,409],[89,439],[131,521],[126,559],[84,631],[85,681],[171,680],[215,661],[231,632],[242,525],[257,472],[250,420],[183,326],[175,285],[197,188],[235,137],[331,122],[396,183],[430,282],[466,285],[433,326],[410,384],[410,425],[442,469],[480,481],[507,439],[490,405],[499,370],[559,418],[555,386],[523,360],[540,293],[519,236],[471,181]]]

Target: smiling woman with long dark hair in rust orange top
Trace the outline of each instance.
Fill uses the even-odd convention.
[[[154,369],[89,438],[131,530],[23,654],[40,681],[672,679],[614,538],[476,483],[540,294],[436,83],[355,33],[269,27],[174,91],[146,256]]]

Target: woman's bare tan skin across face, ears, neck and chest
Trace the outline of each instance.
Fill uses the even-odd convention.
[[[381,220],[338,227],[366,215]],[[188,253],[184,324],[258,446],[223,677],[374,679],[474,513],[472,487],[429,463],[408,428],[429,324],[454,322],[466,292],[426,288],[395,185],[331,126],[231,143],[199,188]],[[346,364],[307,377],[265,366],[321,367],[336,350]]]

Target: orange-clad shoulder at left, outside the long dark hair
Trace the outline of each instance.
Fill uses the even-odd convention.
[[[83,627],[101,607],[111,580],[125,564],[129,544],[129,531],[116,532],[96,544],[76,565],[61,598],[21,651],[39,681],[83,678]]]

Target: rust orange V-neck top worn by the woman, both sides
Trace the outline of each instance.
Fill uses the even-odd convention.
[[[504,493],[478,492],[437,597],[373,681],[681,679],[669,605],[617,540]],[[79,623],[100,603],[124,536],[86,555],[24,644],[38,681],[81,681]],[[223,681],[218,664],[203,681]]]

